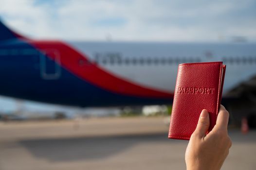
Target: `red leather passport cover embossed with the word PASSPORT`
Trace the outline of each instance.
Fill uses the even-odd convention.
[[[202,109],[216,124],[226,65],[222,62],[186,63],[178,68],[169,138],[189,140],[195,131]]]

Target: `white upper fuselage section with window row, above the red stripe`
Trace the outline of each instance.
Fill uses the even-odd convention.
[[[256,75],[253,43],[68,43],[117,77],[166,92],[173,93],[181,63],[223,61],[227,65],[223,95]]]

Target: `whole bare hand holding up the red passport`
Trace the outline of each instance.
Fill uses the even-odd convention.
[[[210,120],[207,110],[203,109],[198,125],[190,137],[185,153],[187,170],[219,170],[232,145],[228,136],[229,113],[220,105],[216,125],[206,135]]]

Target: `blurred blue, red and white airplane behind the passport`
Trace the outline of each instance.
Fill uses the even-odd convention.
[[[3,96],[82,107],[172,104],[178,65],[212,61],[227,65],[223,100],[239,98],[234,89],[256,75],[256,43],[35,40],[0,21]]]

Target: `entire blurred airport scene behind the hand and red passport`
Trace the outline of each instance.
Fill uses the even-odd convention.
[[[185,169],[167,139],[180,63],[223,61],[233,140],[255,170],[255,0],[1,0],[0,170]]]

